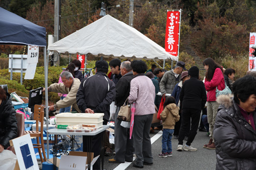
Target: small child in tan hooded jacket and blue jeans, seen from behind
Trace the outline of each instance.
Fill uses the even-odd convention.
[[[163,120],[163,135],[162,135],[162,152],[158,157],[167,158],[167,156],[172,155],[172,137],[174,133],[175,123],[179,121],[179,110],[180,108],[176,106],[175,99],[173,96],[168,96],[163,104],[163,111],[160,114]]]

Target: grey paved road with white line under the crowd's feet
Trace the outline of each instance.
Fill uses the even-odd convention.
[[[157,138],[162,132],[155,131],[151,134],[151,139]],[[206,132],[199,132],[195,137],[195,140],[191,144],[192,147],[197,148],[196,152],[178,152],[176,151],[178,146],[178,139],[172,139],[173,157],[159,158],[157,155],[161,152],[162,136],[160,136],[152,144],[153,165],[144,165],[143,169],[215,169],[216,153],[215,150],[204,149],[203,145],[208,143],[209,137],[205,136]],[[184,140],[185,144],[185,140]],[[108,160],[114,156],[104,157],[104,169],[138,169],[132,166],[132,163],[115,164],[109,163]]]

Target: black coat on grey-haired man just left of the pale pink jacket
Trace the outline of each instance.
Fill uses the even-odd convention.
[[[122,106],[130,94],[131,80],[134,78],[133,72],[127,72],[116,84],[115,105]]]

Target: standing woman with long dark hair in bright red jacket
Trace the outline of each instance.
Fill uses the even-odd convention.
[[[218,108],[220,104],[216,102],[216,87],[218,90],[225,88],[225,80],[223,76],[223,69],[212,58],[207,58],[203,61],[204,68],[206,70],[204,86],[207,91],[207,119],[210,126],[210,140],[208,144],[203,147],[207,149],[216,149],[213,131],[215,118],[217,116]]]

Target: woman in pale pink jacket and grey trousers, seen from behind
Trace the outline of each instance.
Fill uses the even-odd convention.
[[[155,86],[145,76],[146,63],[141,60],[131,62],[134,78],[131,81],[129,102],[135,102],[133,143],[137,158],[133,166],[143,168],[143,164],[152,165],[150,127],[155,111]]]

